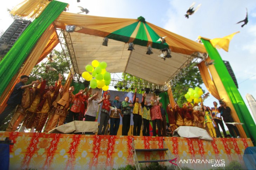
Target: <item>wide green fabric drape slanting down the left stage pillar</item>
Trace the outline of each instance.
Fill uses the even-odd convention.
[[[52,1],[22,33],[0,62],[0,95],[18,72],[22,63],[38,42],[43,32],[61,14],[67,3]]]

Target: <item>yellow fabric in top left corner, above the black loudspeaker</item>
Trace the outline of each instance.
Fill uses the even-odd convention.
[[[45,7],[50,3],[47,0],[25,0],[16,5],[11,14],[28,18],[36,18],[41,14]]]

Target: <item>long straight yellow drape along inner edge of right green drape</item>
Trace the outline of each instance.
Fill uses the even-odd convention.
[[[216,89],[218,90],[218,94],[220,95],[220,98],[224,98],[224,102],[227,104],[227,106],[230,107],[231,116],[234,119],[234,121],[240,123],[240,120],[237,116],[236,110],[228,97],[227,91],[225,90],[225,87],[223,86],[223,83],[222,83],[220,76],[218,75],[215,67],[213,65],[210,65],[209,71],[211,73],[211,76],[213,77],[213,81],[216,86]],[[238,128],[238,131],[239,131],[241,137],[247,138],[247,135],[245,134],[242,125],[236,125],[236,127]]]

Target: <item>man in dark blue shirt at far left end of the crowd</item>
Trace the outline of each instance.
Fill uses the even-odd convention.
[[[8,114],[10,114],[16,108],[16,106],[21,103],[24,89],[28,88],[29,86],[33,86],[33,84],[36,83],[36,81],[33,81],[31,84],[25,85],[27,83],[28,79],[29,79],[29,77],[27,75],[22,75],[20,77],[20,82],[14,86],[13,92],[7,101],[6,108],[0,114],[0,125],[1,125],[2,121],[4,121],[5,118],[8,116]]]

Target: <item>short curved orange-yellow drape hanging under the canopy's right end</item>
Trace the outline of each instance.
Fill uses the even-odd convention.
[[[209,62],[210,58],[208,57],[206,61]],[[213,95],[215,98],[217,98],[218,100],[220,100],[220,95],[218,94],[218,91],[216,89],[216,86],[213,82],[213,80],[211,80],[211,76],[209,74],[208,68],[206,67],[206,65],[204,64],[204,62],[200,62],[197,67],[199,68],[202,80],[204,82],[204,85],[206,86],[207,90],[209,91],[209,93],[211,95]]]

